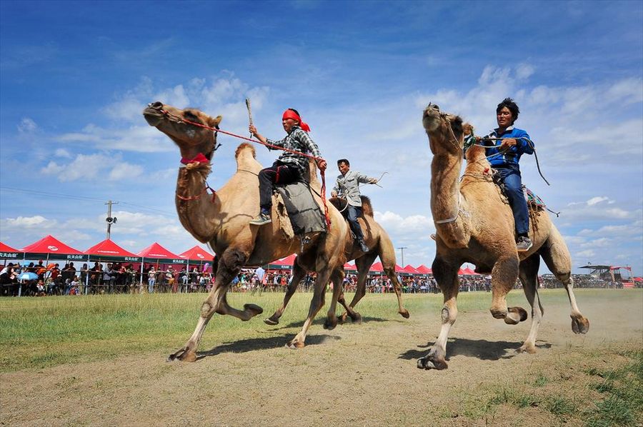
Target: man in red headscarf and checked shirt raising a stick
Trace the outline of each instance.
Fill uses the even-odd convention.
[[[272,141],[260,135],[253,125],[249,126],[249,131],[264,144],[283,147],[284,149],[297,151],[301,154],[311,154],[316,157],[317,167],[321,171],[326,170],[326,161],[321,159],[321,153],[317,144],[310,138],[308,132],[310,127],[301,121],[299,112],[295,109],[287,109],[281,117],[281,124],[286,131],[286,138],[280,141]],[[274,150],[268,147],[269,150]],[[304,175],[308,166],[308,158],[301,154],[284,151],[279,159],[269,168],[262,169],[259,172],[259,215],[250,221],[251,224],[262,226],[271,222],[270,211],[272,207],[272,185],[273,184],[290,184],[297,181]]]

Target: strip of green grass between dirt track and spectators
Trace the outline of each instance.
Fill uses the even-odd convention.
[[[618,305],[641,292],[604,291],[601,289],[577,290],[583,298],[609,296],[610,305]],[[491,293],[464,292],[458,297],[459,312],[485,311]],[[201,348],[229,343],[240,339],[265,336],[266,328],[261,319],[269,316],[283,300],[283,293],[230,293],[229,303],[241,307],[256,303],[264,313],[249,322],[232,316],[215,315],[209,323]],[[96,361],[123,353],[167,350],[181,346],[194,330],[204,293],[157,293],[145,295],[103,296],[50,296],[42,298],[0,299],[0,371],[44,368],[74,361]],[[289,328],[280,332],[299,331],[308,312],[310,293],[296,293],[291,299],[281,325]],[[347,294],[350,301],[351,294]],[[567,294],[563,290],[541,291],[541,298],[548,306],[564,306]],[[327,303],[330,294],[327,295]],[[525,306],[521,291],[512,291],[508,304]],[[442,307],[442,294],[405,294],[404,303],[409,311],[436,313]],[[359,303],[358,311],[369,319],[392,320],[399,317],[397,303],[392,294],[369,294]],[[316,317],[314,328],[321,326],[328,307],[324,306]],[[338,313],[341,313],[338,309]],[[437,334],[439,325],[434,326]]]

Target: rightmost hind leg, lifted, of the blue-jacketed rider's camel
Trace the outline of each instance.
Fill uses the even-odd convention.
[[[569,256],[569,249],[565,244],[557,228],[552,224],[552,231],[549,238],[540,249],[540,256],[547,264],[549,271],[562,282],[567,291],[569,304],[572,307],[572,331],[574,333],[587,333],[589,331],[589,320],[582,315],[574,296],[574,279],[572,278],[572,258]]]

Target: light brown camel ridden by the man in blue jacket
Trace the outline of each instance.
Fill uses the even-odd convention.
[[[474,263],[477,271],[492,274],[492,306],[494,318],[516,324],[527,319],[521,307],[507,308],[505,297],[518,277],[524,294],[532,306],[532,327],[519,352],[536,351],[536,336],[543,308],[538,295],[540,258],[563,283],[572,306],[572,331],[587,333],[589,321],[579,311],[574,298],[572,261],[567,245],[546,211],[532,215],[529,238],[534,245],[519,253],[514,240],[514,217],[509,205],[489,174],[490,165],[484,148],[467,150],[467,167],[459,181],[462,164],[462,119],[442,113],[429,104],[424,109],[422,124],[429,136],[433,153],[431,164],[431,211],[436,223],[437,251],[433,274],[444,295],[442,328],[427,356],[417,361],[418,368],[444,369],[447,362],[447,336],[458,313],[458,268]]]

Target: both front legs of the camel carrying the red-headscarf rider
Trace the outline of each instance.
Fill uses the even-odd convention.
[[[232,278],[239,274],[241,266],[244,265],[246,256],[241,251],[236,249],[228,249],[219,258],[219,264],[216,268],[216,278],[214,286],[210,291],[206,301],[201,306],[201,315],[199,321],[196,322],[194,333],[190,336],[185,346],[179,348],[178,351],[172,353],[167,360],[193,362],[196,361],[196,348],[199,346],[201,336],[214,313],[230,314],[242,321],[248,321],[257,314],[261,314],[263,309],[254,304],[245,304],[244,310],[237,310],[228,305],[226,301],[226,293],[232,281]]]

